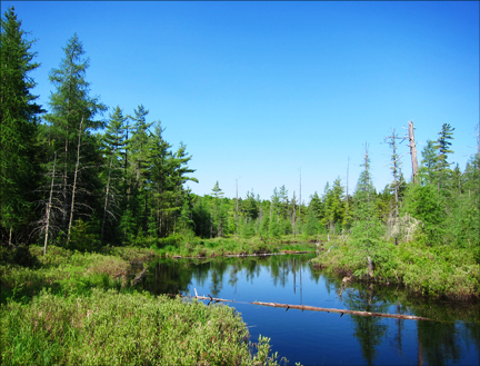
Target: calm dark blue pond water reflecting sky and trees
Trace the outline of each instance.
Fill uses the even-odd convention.
[[[237,301],[272,301],[417,315],[399,320],[228,303],[241,313],[251,340],[271,338],[273,352],[303,365],[479,365],[479,305],[429,304],[394,286],[347,287],[314,271],[311,255],[156,263],[143,286]]]

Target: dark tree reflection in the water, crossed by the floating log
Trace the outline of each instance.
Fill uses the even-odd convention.
[[[351,310],[386,313],[389,305],[376,296],[373,285],[370,285],[368,290],[348,291],[343,298],[343,304]],[[353,335],[360,343],[362,356],[364,360],[372,365],[377,357],[377,347],[380,345],[383,336],[387,333],[387,325],[382,324],[382,319],[372,316],[356,316],[352,315],[354,324]]]

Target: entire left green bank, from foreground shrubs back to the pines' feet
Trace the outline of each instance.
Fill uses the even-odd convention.
[[[21,250],[20,250],[21,253]],[[131,286],[150,249],[80,254],[40,247],[2,251],[2,365],[276,365],[268,338],[248,342],[227,306],[169,299]],[[141,268],[140,268],[141,269]]]

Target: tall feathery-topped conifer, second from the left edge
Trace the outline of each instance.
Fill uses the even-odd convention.
[[[89,59],[83,58],[83,46],[77,34],[68,40],[63,51],[59,69],[50,72],[56,91],[50,96],[50,113],[46,120],[50,126],[48,133],[59,146],[57,166],[62,171],[63,202],[60,226],[69,238],[73,216],[90,215],[93,210],[87,197],[91,197],[97,171],[86,168],[97,166],[93,161],[99,160],[98,140],[91,131],[103,127],[103,121],[94,117],[107,107],[98,97],[89,96],[90,85],[86,81]],[[79,195],[81,205],[78,205]]]

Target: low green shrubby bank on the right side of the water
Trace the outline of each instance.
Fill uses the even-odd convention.
[[[330,249],[330,250],[329,250]],[[353,281],[400,284],[431,297],[467,300],[480,297],[480,251],[418,243],[379,243],[371,247],[336,238],[312,260],[318,268],[351,277]],[[373,270],[368,270],[368,257]]]

